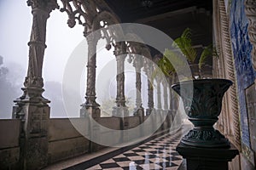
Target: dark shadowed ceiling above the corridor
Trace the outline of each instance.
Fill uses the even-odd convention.
[[[212,0],[105,0],[121,22],[141,23],[175,39],[189,27],[196,46],[212,43]],[[148,6],[143,4],[148,3]]]

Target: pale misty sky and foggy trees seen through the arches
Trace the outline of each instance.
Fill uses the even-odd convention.
[[[28,64],[27,42],[30,40],[32,28],[31,7],[26,5],[26,1],[1,0],[0,23],[0,118],[11,118],[12,107],[15,105],[13,101],[21,96],[22,90],[20,88],[23,88],[26,77]],[[79,43],[84,40],[83,31],[83,26],[78,24],[72,29],[69,28],[67,26],[67,14],[61,13],[59,9],[51,12],[47,21],[47,48],[44,53],[43,67],[44,97],[51,101],[49,104],[50,117],[79,116],[79,105],[77,111],[67,115],[62,99],[61,83],[67,59]],[[104,66],[108,65],[108,62],[115,61],[113,48],[110,51],[102,47],[99,48],[96,64],[97,75],[100,75],[102,71],[106,72]],[[85,65],[86,63],[84,63],[84,72],[81,76],[79,89],[83,101],[86,89]],[[126,65],[132,64],[127,64],[126,61]],[[125,72],[125,97],[131,112],[135,105],[135,75],[132,67],[130,71]],[[142,82],[143,107],[147,108],[148,82],[144,73]],[[102,87],[101,82],[96,82],[96,100],[102,105],[103,114],[109,116],[108,112],[112,111],[112,107],[115,105],[115,74],[105,83],[107,83],[107,87]],[[70,93],[72,95],[72,91]]]

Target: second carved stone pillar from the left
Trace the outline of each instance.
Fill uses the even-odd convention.
[[[96,103],[96,45],[100,37],[90,34],[86,37],[88,43],[88,62],[87,62],[87,87],[85,103],[80,110],[80,116],[90,114],[93,118],[101,116],[99,104]]]

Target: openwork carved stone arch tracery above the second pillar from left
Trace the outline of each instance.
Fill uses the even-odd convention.
[[[61,0],[61,2],[63,3],[61,12],[66,12],[68,15],[67,25],[73,28],[78,20],[79,25],[84,26],[84,37],[92,31],[119,23],[119,18],[103,0]],[[113,39],[113,35],[109,36],[106,31],[103,33],[105,36],[102,38],[106,38],[110,45],[112,41],[109,39]]]

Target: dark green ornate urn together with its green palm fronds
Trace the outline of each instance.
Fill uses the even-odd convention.
[[[183,99],[184,110],[189,116],[189,121],[194,124],[194,128],[183,137],[181,143],[197,147],[229,147],[229,140],[214,129],[213,125],[218,121],[222,98],[232,82],[225,79],[202,79],[200,74],[205,60],[212,57],[216,50],[212,45],[207,46],[201,52],[199,63],[195,63],[198,54],[192,46],[190,29],[183,31],[182,36],[174,41],[173,46],[180,48],[189,65],[193,67],[191,69],[193,80],[172,85],[172,89]],[[182,65],[182,62],[175,52],[166,49],[158,65],[167,77],[171,77],[176,72],[173,65]]]

